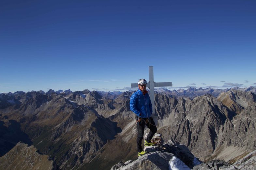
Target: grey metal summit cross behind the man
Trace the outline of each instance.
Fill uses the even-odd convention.
[[[173,82],[161,82],[156,83],[154,82],[154,72],[153,72],[153,66],[149,66],[149,82],[147,83],[147,87],[151,89],[149,91],[149,96],[152,103],[153,113],[152,118],[154,119],[154,122],[156,125],[158,125],[158,115],[155,113],[155,94],[154,94],[154,88],[155,87],[166,87],[166,86],[173,86]],[[132,83],[131,88],[138,87],[138,83]],[[153,92],[153,93],[150,93]]]

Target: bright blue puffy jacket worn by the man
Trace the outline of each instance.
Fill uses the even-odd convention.
[[[139,117],[151,117],[152,103],[148,93],[144,96],[140,89],[133,93],[130,98],[130,110]]]

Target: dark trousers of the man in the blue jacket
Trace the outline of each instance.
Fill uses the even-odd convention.
[[[157,127],[155,126],[155,122],[154,122],[153,118],[152,117],[148,118],[148,120],[150,121],[151,124],[146,123],[146,119],[147,118],[142,118],[142,120],[139,123],[137,123],[137,130],[138,130],[137,150],[138,150],[138,152],[142,151],[141,142],[142,142],[143,135],[144,135],[145,125],[150,129],[150,132],[148,133],[148,136],[146,138],[147,142],[151,142],[152,137],[157,132]]]

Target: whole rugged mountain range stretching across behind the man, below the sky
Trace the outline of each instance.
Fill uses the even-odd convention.
[[[12,155],[11,150],[23,141],[33,145],[38,154],[47,155],[55,169],[111,169],[121,161],[129,166],[132,162],[142,165],[149,163],[154,155],[168,163],[175,157],[174,160],[181,160],[190,169],[198,166],[192,164],[195,156],[208,163],[201,165],[209,169],[221,167],[221,161],[216,160],[224,161],[222,168],[246,167],[246,163],[253,163],[256,147],[254,87],[229,89],[218,95],[214,91],[199,93],[209,90],[212,91],[190,88],[183,94],[177,90],[176,96],[165,90],[156,92],[158,133],[167,145],[140,159],[136,154],[135,115],[129,109],[134,91],[119,94],[69,89],[2,93],[0,159]],[[185,153],[180,150],[186,150],[185,157],[189,157],[190,163],[182,160]],[[151,161],[152,167],[152,163],[156,165]],[[10,166],[15,165],[10,163]]]

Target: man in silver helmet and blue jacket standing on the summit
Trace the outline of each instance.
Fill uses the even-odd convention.
[[[151,143],[151,139],[154,134],[157,132],[157,127],[152,114],[152,103],[148,95],[148,91],[146,90],[147,81],[145,79],[140,79],[138,81],[138,91],[132,94],[130,98],[130,110],[136,114],[136,122],[137,122],[137,150],[138,156],[142,156],[147,152],[142,150],[141,142],[144,135],[144,127],[145,125],[150,129],[147,138],[144,141],[145,146],[155,146],[154,143]],[[154,89],[152,89],[152,93],[154,93]],[[155,109],[155,108],[154,108]]]

